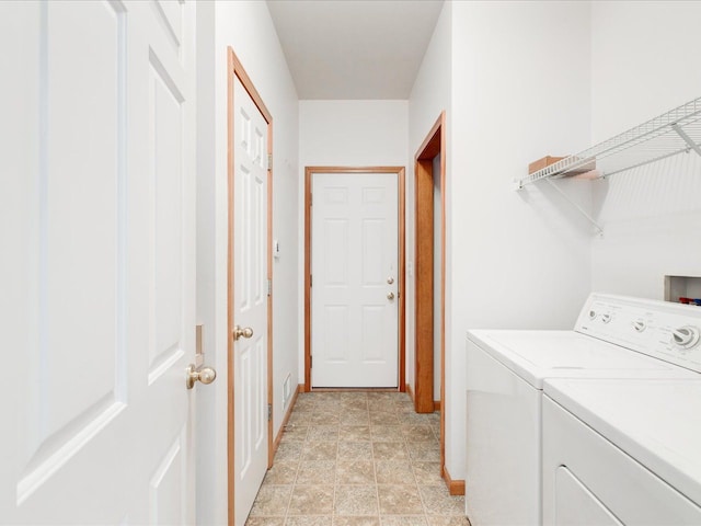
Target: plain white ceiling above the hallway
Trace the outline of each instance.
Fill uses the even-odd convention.
[[[300,100],[409,99],[443,0],[267,0]]]

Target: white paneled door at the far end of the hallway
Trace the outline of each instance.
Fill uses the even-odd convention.
[[[312,387],[398,387],[398,175],[313,173]]]

